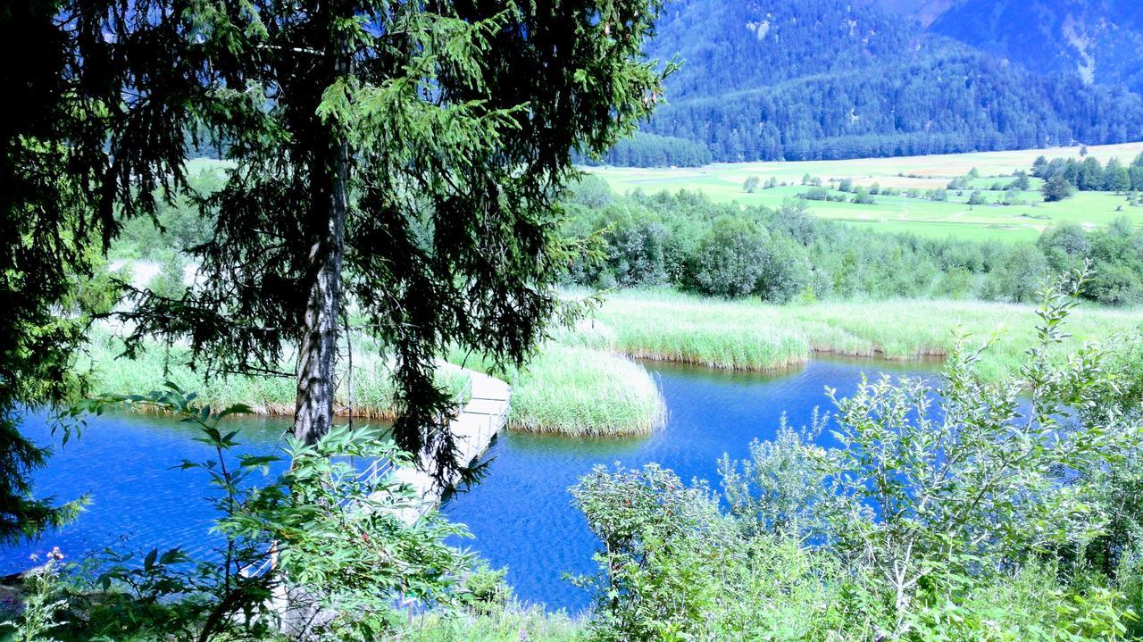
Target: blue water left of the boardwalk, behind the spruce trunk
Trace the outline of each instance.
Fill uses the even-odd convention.
[[[293,426],[289,418],[232,416],[230,430],[238,430],[240,446],[231,454],[281,455],[285,436]],[[58,546],[69,560],[86,553],[113,547],[122,552],[152,547],[182,546],[193,556],[209,555],[221,538],[210,532],[217,516],[207,500],[215,492],[209,478],[200,470],[179,470],[191,462],[216,460],[217,454],[197,441],[201,435],[194,424],[166,415],[107,412],[88,418],[80,436],[61,446],[51,435],[48,416],[29,414],[22,432],[38,444],[54,444],[55,454],[46,470],[35,474],[39,497],[67,501],[89,496],[79,519],[39,541],[0,549],[0,573],[29,568],[29,555]],[[285,471],[277,462],[263,475],[255,473],[251,483],[269,483]]]

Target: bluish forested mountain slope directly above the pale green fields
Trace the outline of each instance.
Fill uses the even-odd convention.
[[[684,66],[644,128],[655,137],[609,160],[844,159],[1143,138],[1143,99],[1122,86],[1028,71],[925,30],[925,7],[933,25],[956,22],[948,3],[890,1],[916,19],[869,0],[668,5],[649,53]]]

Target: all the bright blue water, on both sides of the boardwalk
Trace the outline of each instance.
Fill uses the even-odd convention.
[[[930,364],[870,360],[823,360],[780,374],[752,375],[646,363],[666,400],[666,426],[652,436],[582,440],[550,435],[504,434],[493,446],[489,474],[474,489],[451,497],[446,514],[469,525],[474,539],[459,544],[507,567],[509,581],[529,602],[580,610],[586,595],[562,578],[588,573],[596,540],[570,506],[567,489],[597,464],[639,466],[658,462],[682,479],[700,478],[717,487],[716,462],[724,452],[745,457],[752,439],[774,435],[785,412],[796,425],[815,407],[826,409],[825,386],[850,393],[861,374],[874,376],[932,371]],[[279,443],[289,422],[241,418],[241,440],[250,451]],[[51,441],[43,417],[30,416],[25,432]],[[209,551],[213,513],[199,471],[174,470],[183,459],[205,459],[211,451],[193,441],[193,426],[154,416],[117,415],[90,422],[78,441],[58,449],[35,479],[40,496],[71,499],[89,493],[82,516],[32,545],[0,551],[0,571],[27,568],[31,553],[59,546],[77,557],[104,546],[149,549],[182,545]],[[57,440],[58,441],[58,440]]]

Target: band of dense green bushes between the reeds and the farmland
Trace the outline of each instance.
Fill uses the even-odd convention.
[[[600,247],[594,259],[585,255],[573,263],[566,279],[775,303],[854,297],[1029,302],[1047,275],[1089,260],[1094,274],[1081,297],[1109,305],[1143,302],[1143,231],[1126,218],[1096,230],[1062,225],[1036,243],[1009,243],[856,228],[809,216],[804,201],[770,209],[719,204],[686,191],[617,196],[602,179],[588,177],[573,190],[566,233],[594,233]]]

